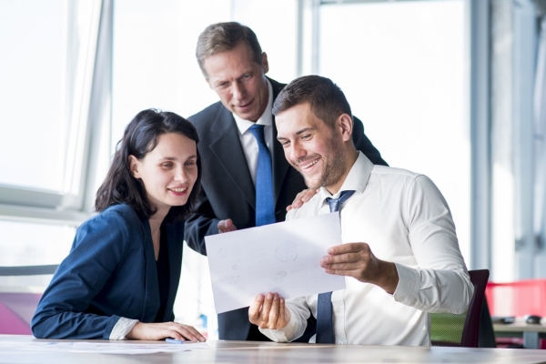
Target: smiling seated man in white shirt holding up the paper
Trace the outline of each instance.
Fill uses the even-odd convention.
[[[374,166],[360,153],[351,141],[349,103],[328,78],[292,81],[273,114],[288,162],[308,187],[320,188],[287,219],[329,213],[328,197],[354,191],[340,209],[344,244],[320,261],[326,272],[346,276],[347,288],[331,293],[328,308],[333,342],[430,346],[428,312],[463,313],[473,292],[438,188],[426,176]],[[318,297],[285,302],[274,292],[258,295],[248,317],[269,339],[291,341],[304,332],[309,309],[319,331]]]

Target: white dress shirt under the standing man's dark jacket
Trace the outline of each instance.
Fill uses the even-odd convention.
[[[239,138],[241,141],[241,147],[243,147],[243,152],[245,157],[247,157],[248,170],[250,171],[250,176],[252,177],[252,182],[256,186],[256,173],[258,171],[258,142],[256,137],[250,133],[250,126],[254,124],[264,126],[264,138],[266,139],[266,144],[269,148],[269,154],[271,155],[271,161],[273,161],[273,87],[268,82],[268,106],[264,110],[264,113],[259,116],[258,120],[255,122],[241,119],[239,116],[233,114],[235,118],[235,123],[237,124],[239,131]]]

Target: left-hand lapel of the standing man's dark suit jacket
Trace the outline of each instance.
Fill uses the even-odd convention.
[[[214,137],[211,138],[208,147],[250,206],[256,208],[256,190],[248,170],[247,157],[245,157],[241,144],[238,143],[240,140],[238,128],[227,108],[220,107],[210,131]],[[222,181],[217,181],[217,183],[222,183]]]

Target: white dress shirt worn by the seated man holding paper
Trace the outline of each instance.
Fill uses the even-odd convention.
[[[335,342],[430,346],[427,312],[463,313],[473,292],[448,204],[429,177],[374,166],[360,152],[339,192],[344,190],[356,192],[340,210],[343,243],[368,243],[377,258],[394,262],[399,284],[390,295],[345,278],[347,288],[331,298]],[[326,197],[331,195],[322,187],[303,207],[290,210],[287,220],[329,213]],[[287,327],[260,331],[274,341],[298,339],[308,308],[317,317],[317,300],[318,295],[288,299]]]

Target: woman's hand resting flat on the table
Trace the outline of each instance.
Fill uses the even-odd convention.
[[[182,325],[177,322],[138,322],[126,335],[126,339],[137,340],[161,340],[166,338],[182,341],[207,341],[207,339],[193,326]]]

